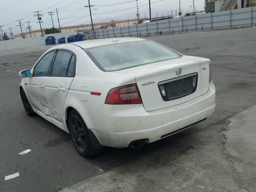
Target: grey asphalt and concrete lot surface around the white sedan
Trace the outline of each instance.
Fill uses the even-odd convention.
[[[256,191],[256,28],[147,38],[212,60],[212,118],[140,148],[104,148],[82,158],[68,133],[26,116],[20,99],[18,72],[50,47],[0,52],[1,192]],[[18,155],[26,149],[32,151]]]

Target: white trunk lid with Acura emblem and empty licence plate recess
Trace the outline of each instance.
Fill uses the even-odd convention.
[[[206,68],[203,76],[201,63]],[[209,66],[209,59],[182,56],[173,60],[115,71],[114,73],[134,76],[145,110],[154,111],[176,106],[206,92],[209,83],[207,63]],[[178,75],[176,70],[178,70]],[[196,82],[194,82],[195,79]],[[162,92],[163,89],[165,96]]]

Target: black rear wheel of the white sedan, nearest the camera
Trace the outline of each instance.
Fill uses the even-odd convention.
[[[68,129],[73,144],[81,156],[90,157],[101,151],[94,148],[83,118],[74,109],[68,116]]]

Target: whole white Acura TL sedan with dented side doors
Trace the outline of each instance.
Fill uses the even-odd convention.
[[[142,38],[54,46],[19,75],[28,116],[69,132],[82,156],[166,138],[215,108],[209,59]]]

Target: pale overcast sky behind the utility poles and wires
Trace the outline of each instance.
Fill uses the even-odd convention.
[[[134,19],[136,17],[136,0],[90,0],[91,5],[95,5],[91,9],[92,20],[96,22],[108,22],[110,20]],[[42,10],[42,28],[51,28],[52,20],[48,12],[53,11],[54,27],[58,27],[56,8],[60,18],[61,26],[73,26],[79,24],[90,24],[88,0],[4,0],[0,6],[0,25],[2,30],[9,32],[8,28],[12,28],[14,34],[19,34],[20,27],[16,20],[23,19],[22,31],[26,32],[30,21],[32,30],[40,29],[37,18],[34,17],[34,11]],[[190,12],[193,0],[181,0],[182,13]],[[204,0],[195,0],[196,10],[204,10]],[[138,8],[140,17],[149,17],[148,0],[138,0]],[[94,10],[95,9],[95,10]],[[151,0],[151,16],[167,16],[175,15],[179,9],[179,0]],[[193,9],[193,8],[192,8]],[[178,11],[177,11],[178,14]]]

